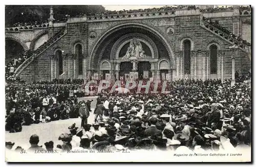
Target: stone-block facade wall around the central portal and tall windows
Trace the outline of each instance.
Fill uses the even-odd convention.
[[[205,30],[200,26],[200,15],[188,15],[188,16],[176,16],[170,17],[175,18],[175,24],[172,26],[159,26],[158,24],[152,26],[156,29],[161,35],[163,35],[167,42],[173,47],[173,53],[180,52],[182,54],[182,41],[185,39],[191,40],[191,52],[193,52],[193,56],[191,57],[191,62],[194,65],[191,70],[191,78],[195,79],[206,79],[206,54],[208,53],[208,47],[211,43],[218,45],[219,50],[225,50],[225,58],[224,58],[224,78],[231,78],[231,52],[228,50],[228,47],[231,46],[230,43],[226,42],[222,38],[218,37],[214,33]],[[220,20],[220,24],[223,27],[232,31],[232,17],[215,17],[214,19]],[[146,20],[134,20],[135,22],[143,23]],[[112,27],[118,23],[124,23],[125,21],[120,21],[117,23],[113,23]],[[130,20],[130,22],[133,22]],[[91,24],[91,23],[90,23]],[[145,22],[145,24],[147,24]],[[90,29],[88,30],[88,22],[78,22],[78,23],[68,23],[67,24],[67,34],[63,36],[60,40],[54,43],[51,47],[49,47],[44,53],[41,54],[39,58],[37,58],[32,64],[30,64],[20,75],[20,78],[24,80],[30,81],[46,81],[51,80],[55,76],[52,76],[51,72],[51,60],[53,60],[52,55],[56,50],[64,51],[63,52],[63,72],[66,74],[63,76],[64,78],[74,78],[78,77],[77,70],[74,71],[74,58],[72,54],[74,54],[74,44],[79,42],[82,44],[83,48],[83,74],[86,73],[87,65],[91,62],[88,62],[88,56],[91,54],[93,47],[97,44],[97,40],[102,36],[103,33],[110,30],[111,24],[109,28],[106,29]],[[166,30],[168,28],[174,29],[173,35],[167,35]],[[58,32],[62,27],[54,28],[54,33]],[[94,31],[97,36],[95,39],[90,39],[89,34]],[[243,29],[243,33],[246,34],[246,31]],[[44,37],[41,37],[44,38]],[[40,39],[41,39],[40,38]],[[161,48],[160,46],[158,49]],[[104,57],[102,59],[109,58],[109,54],[111,49],[106,49],[104,52]],[[166,54],[159,51],[159,57],[161,55]],[[179,54],[175,54],[175,59],[180,59]],[[179,64],[180,67],[184,70],[184,60],[182,59],[182,63]],[[178,61],[175,62],[175,68],[177,68]],[[210,62],[208,62],[210,63]],[[76,63],[76,67],[77,67]],[[196,70],[195,70],[196,69]],[[220,69],[220,67],[219,67]],[[239,70],[239,74],[245,73],[245,71],[250,69],[250,60],[248,55],[244,52],[240,52],[239,56],[236,57],[236,70]],[[176,69],[177,70],[177,69]],[[210,70],[210,69],[208,69]],[[174,73],[176,73],[174,71]],[[180,72],[179,72],[180,73]],[[183,72],[184,73],[184,72]],[[58,74],[58,73],[57,73]],[[182,74],[184,75],[184,74]],[[219,75],[221,76],[221,75]],[[56,76],[58,77],[58,75]],[[213,75],[210,75],[213,77]],[[218,74],[215,78],[218,77]],[[82,77],[83,78],[83,77]]]

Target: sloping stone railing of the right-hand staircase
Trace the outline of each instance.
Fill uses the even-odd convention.
[[[214,25],[211,25],[209,22],[201,19],[201,26],[205,27],[206,29],[210,30],[211,32],[223,37],[224,39],[226,39],[227,41],[231,42],[234,45],[237,45],[240,47],[240,49],[242,49],[243,51],[247,52],[250,50],[250,43],[244,43],[238,39],[235,39],[234,37],[230,36],[230,34],[227,34],[225,32],[223,32],[222,30],[218,29],[217,27],[215,27]]]

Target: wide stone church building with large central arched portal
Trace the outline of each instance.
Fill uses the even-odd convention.
[[[26,81],[55,78],[230,79],[234,70],[251,68],[250,45],[210,25],[203,17],[247,42],[251,41],[250,11],[215,12],[176,9],[69,18],[38,27],[6,28],[6,41],[20,50],[38,50],[15,70]],[[237,47],[232,47],[233,45]],[[232,47],[232,48],[231,48]],[[18,51],[17,51],[18,52]],[[61,75],[62,74],[62,75]],[[233,74],[234,75],[234,74]]]

